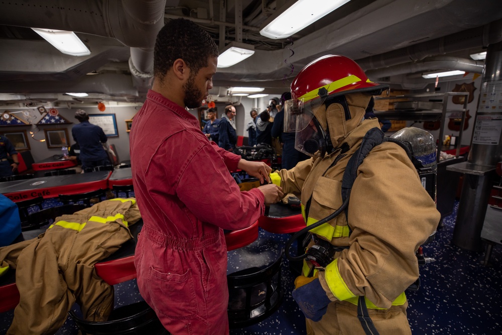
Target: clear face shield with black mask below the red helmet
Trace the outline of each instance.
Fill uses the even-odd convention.
[[[311,157],[323,156],[326,148],[326,134],[313,113],[324,101],[325,98],[319,97],[307,102],[291,99],[284,103],[284,131],[296,132],[295,149]]]

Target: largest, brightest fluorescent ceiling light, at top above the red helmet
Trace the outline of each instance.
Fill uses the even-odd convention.
[[[260,30],[260,35],[273,39],[290,37],[349,1],[298,0],[279,16],[276,15],[280,13],[282,8],[272,15],[269,20],[273,21]]]

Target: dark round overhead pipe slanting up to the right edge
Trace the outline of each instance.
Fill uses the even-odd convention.
[[[479,45],[486,47],[500,41],[502,41],[502,19],[432,41],[357,59],[356,62],[366,71],[408,63],[410,60],[419,61],[429,56],[476,48]]]

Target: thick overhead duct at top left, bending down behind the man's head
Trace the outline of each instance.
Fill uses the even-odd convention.
[[[165,6],[166,0],[48,0],[43,6],[39,2],[10,2],[2,5],[0,22],[115,38],[131,47],[133,75],[153,76],[153,50],[157,33],[164,26]],[[140,82],[144,82],[142,75]]]

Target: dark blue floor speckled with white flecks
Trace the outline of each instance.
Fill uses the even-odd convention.
[[[426,255],[437,261],[421,266],[421,289],[407,293],[410,303],[408,319],[414,335],[502,333],[502,246],[493,248],[489,267],[480,263],[484,253],[453,246],[451,239],[457,206],[458,203],[453,214],[444,219],[444,228],[438,231],[436,240],[424,247]],[[260,265],[272,261],[277,248],[283,247],[288,237],[261,230],[259,241],[245,250],[228,253],[229,269],[237,271],[252,263]],[[285,294],[279,310],[260,323],[230,330],[231,335],[305,334],[305,320],[291,297],[296,275],[287,260],[282,276]],[[115,307],[141,300],[135,280],[114,285],[114,288]],[[12,318],[13,311],[0,313],[0,334],[6,333]],[[58,335],[77,333],[77,327],[70,319],[57,332]]]

